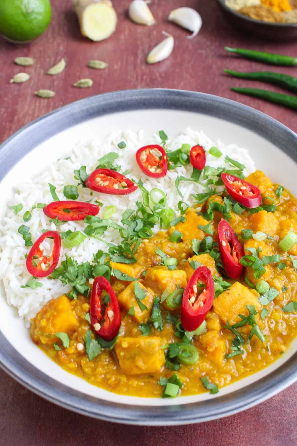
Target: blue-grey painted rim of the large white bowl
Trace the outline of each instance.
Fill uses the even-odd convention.
[[[118,111],[171,110],[173,105],[175,110],[216,116],[218,119],[248,128],[277,145],[295,163],[297,162],[297,135],[260,111],[230,99],[205,93],[147,88],[91,96],[60,107],[26,124],[0,145],[0,181],[26,153],[41,141],[47,140],[66,128],[96,116],[109,115]],[[85,111],[83,116],[82,110]],[[63,120],[63,116],[66,121]],[[49,125],[51,122],[56,123],[54,129]],[[42,129],[44,132],[41,132]],[[27,140],[26,136],[28,136]],[[18,140],[22,141],[23,146],[17,144]],[[232,394],[218,396],[215,399],[185,404],[179,404],[177,399],[176,405],[173,406],[135,406],[112,403],[85,395],[47,376],[24,359],[1,331],[0,366],[26,388],[65,409],[105,421],[151,426],[183,425],[226,417],[265,401],[297,380],[296,352],[268,376]]]

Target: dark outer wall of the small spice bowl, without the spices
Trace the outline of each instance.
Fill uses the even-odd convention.
[[[225,4],[225,0],[217,0],[227,20],[240,31],[257,35],[269,40],[289,41],[297,39],[297,23],[272,23],[251,19],[239,14]]]

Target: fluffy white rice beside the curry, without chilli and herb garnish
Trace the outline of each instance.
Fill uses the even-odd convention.
[[[25,211],[31,211],[32,207],[37,203],[49,203],[52,202],[52,196],[50,194],[48,183],[56,186],[56,193],[58,197],[63,200],[63,188],[65,185],[77,185],[77,180],[73,177],[74,169],[79,169],[81,165],[86,165],[87,173],[91,173],[98,165],[98,158],[102,157],[106,153],[116,152],[119,158],[114,164],[121,166],[121,172],[130,170],[131,173],[127,175],[129,178],[142,179],[144,186],[147,190],[151,190],[154,187],[158,187],[163,190],[167,195],[166,207],[172,207],[177,215],[178,202],[181,200],[176,188],[175,179],[177,176],[182,175],[190,178],[192,167],[181,166],[175,171],[168,171],[164,178],[148,178],[139,169],[135,152],[139,147],[146,144],[160,144],[161,140],[159,134],[154,134],[149,140],[144,140],[143,131],[134,133],[130,130],[124,132],[113,132],[106,138],[105,141],[92,140],[92,141],[80,141],[71,151],[68,159],[61,159],[49,166],[48,169],[32,178],[29,182],[19,184],[14,191],[14,198],[9,203],[9,206],[16,206],[21,203],[23,205],[22,211],[17,215],[14,211],[8,208],[7,214],[2,220],[0,225],[0,246],[2,251],[0,252],[0,279],[3,279],[4,288],[6,292],[6,298],[9,305],[15,306],[18,310],[19,316],[24,318],[26,326],[30,325],[30,319],[33,318],[37,312],[41,309],[53,297],[58,297],[63,293],[69,291],[69,285],[62,285],[59,280],[49,280],[47,278],[38,279],[43,284],[42,287],[38,287],[36,290],[31,288],[20,288],[21,285],[25,285],[28,281],[30,274],[27,271],[24,255],[29,252],[29,248],[24,246],[24,240],[22,235],[18,233],[18,228],[21,224],[25,224],[30,228],[32,234],[33,243],[42,234],[42,229],[51,229],[58,231],[83,231],[85,223],[83,222],[67,222],[59,227],[56,227],[54,223],[49,223],[49,219],[44,215],[43,210],[36,208],[32,213],[32,218],[27,223],[23,220]],[[126,147],[124,149],[118,148],[118,143],[124,140]],[[206,149],[206,164],[212,167],[230,166],[224,162],[225,155],[229,155],[231,158],[239,161],[246,166],[244,171],[245,175],[248,175],[255,170],[254,163],[248,154],[246,149],[240,148],[235,144],[224,145],[220,140],[213,142],[203,132],[197,132],[187,128],[186,131],[175,137],[169,137],[167,140],[167,148],[171,150],[178,149],[182,144],[190,144],[191,146],[201,144]],[[208,150],[216,146],[223,153],[220,158],[215,158],[208,153]],[[70,148],[69,148],[70,150]],[[180,182],[179,189],[183,194],[183,201],[188,204],[194,203],[195,200],[191,194],[197,194],[204,191],[203,186],[200,186],[194,182]],[[218,188],[220,190],[220,188]],[[103,218],[103,212],[106,206],[114,205],[117,209],[117,213],[112,215],[112,219],[116,223],[120,223],[122,213],[127,209],[135,209],[136,201],[142,199],[142,192],[137,189],[133,194],[124,196],[99,194],[94,192],[93,196],[90,195],[90,190],[78,186],[80,201],[96,199],[103,203],[98,214]],[[153,229],[156,233],[159,230],[157,225]],[[117,230],[108,228],[104,233],[104,239],[107,242],[113,242],[118,245],[121,243],[121,237]],[[43,242],[45,248],[49,248],[49,242],[45,240]],[[93,260],[93,254],[98,249],[107,251],[106,244],[94,238],[86,238],[84,242],[78,247],[72,249],[66,249],[61,246],[60,262],[65,260],[65,253],[67,256],[73,257],[78,263]]]

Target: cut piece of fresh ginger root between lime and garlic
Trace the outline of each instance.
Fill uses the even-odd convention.
[[[114,32],[117,14],[110,0],[74,0],[73,9],[83,36],[100,41]]]

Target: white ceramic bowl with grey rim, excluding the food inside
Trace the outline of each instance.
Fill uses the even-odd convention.
[[[212,95],[177,90],[118,91],[83,99],[28,124],[0,147],[0,216],[13,186],[67,156],[77,140],[116,129],[146,136],[185,128],[247,148],[258,169],[297,195],[297,135],[272,118]],[[175,399],[121,396],[90,385],[50,360],[31,341],[0,289],[0,365],[21,384],[67,409],[109,421],[170,425],[224,417],[264,401],[297,379],[297,341],[261,372],[220,389]]]

